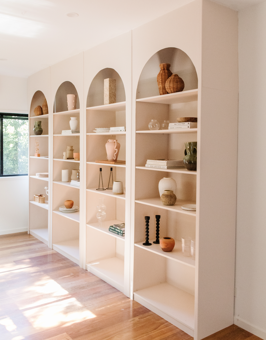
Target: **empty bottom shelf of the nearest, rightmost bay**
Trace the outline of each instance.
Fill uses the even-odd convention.
[[[134,300],[194,335],[195,297],[167,282],[134,292]]]

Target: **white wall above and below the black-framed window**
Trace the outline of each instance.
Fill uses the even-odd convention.
[[[0,112],[28,113],[27,79],[0,75]],[[28,176],[0,177],[0,235],[28,230]]]

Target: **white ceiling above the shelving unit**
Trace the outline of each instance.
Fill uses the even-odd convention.
[[[0,0],[0,74],[28,77],[191,1]],[[263,1],[215,2],[242,10]]]

